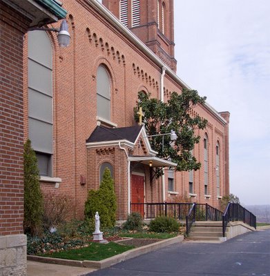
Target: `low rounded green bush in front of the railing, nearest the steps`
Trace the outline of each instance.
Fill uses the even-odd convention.
[[[150,221],[149,230],[157,233],[171,233],[179,230],[179,224],[173,217],[157,217]]]

